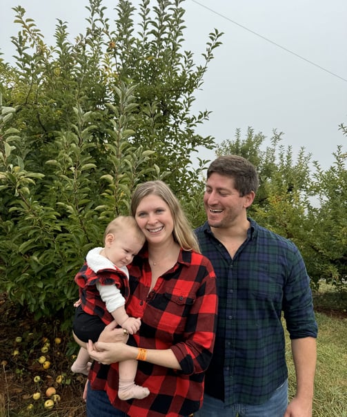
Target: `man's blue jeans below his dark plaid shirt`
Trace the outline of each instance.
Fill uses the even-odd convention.
[[[288,405],[288,380],[276,389],[272,397],[261,405],[233,404],[224,408],[224,403],[205,394],[204,405],[194,417],[283,417]]]

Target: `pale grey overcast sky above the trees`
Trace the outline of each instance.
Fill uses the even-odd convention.
[[[0,50],[11,61],[10,37],[17,35],[12,7],[23,6],[54,44],[56,19],[68,22],[71,40],[86,27],[88,0],[1,0]],[[137,5],[138,1],[133,1]],[[112,10],[117,0],[104,0]],[[196,94],[196,110],[211,110],[199,129],[221,142],[248,126],[270,139],[284,132],[285,146],[304,146],[323,168],[333,163],[347,137],[346,0],[186,0],[186,49],[199,61],[208,33],[225,35]],[[112,15],[112,12],[110,12]],[[266,39],[264,39],[266,38]],[[299,56],[298,56],[299,55]],[[319,68],[321,67],[321,68]],[[266,142],[270,144],[270,142]],[[213,153],[199,156],[212,159]]]

